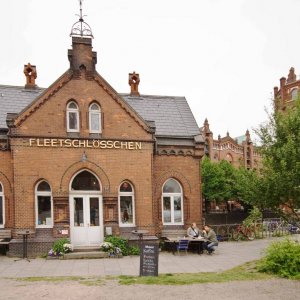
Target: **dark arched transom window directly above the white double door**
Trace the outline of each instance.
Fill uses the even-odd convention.
[[[100,184],[94,174],[89,171],[82,171],[72,181],[73,191],[100,191]]]

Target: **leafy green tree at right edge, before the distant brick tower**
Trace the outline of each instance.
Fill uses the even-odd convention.
[[[284,204],[294,212],[300,207],[299,99],[292,108],[270,114],[256,132],[262,143],[267,205],[278,208]]]

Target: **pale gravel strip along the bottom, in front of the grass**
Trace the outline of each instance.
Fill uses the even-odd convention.
[[[25,282],[0,279],[0,299],[242,299],[295,300],[299,299],[300,282],[285,279],[239,281],[228,283],[193,284],[184,286],[119,285],[106,280],[86,286],[77,281]]]

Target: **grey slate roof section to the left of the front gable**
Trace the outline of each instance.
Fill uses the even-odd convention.
[[[43,91],[38,87],[25,89],[24,86],[0,85],[0,128],[7,128],[7,113],[20,113]]]

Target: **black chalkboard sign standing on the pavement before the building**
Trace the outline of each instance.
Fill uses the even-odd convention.
[[[142,245],[140,254],[140,276],[158,276],[158,245]]]

